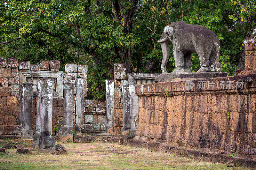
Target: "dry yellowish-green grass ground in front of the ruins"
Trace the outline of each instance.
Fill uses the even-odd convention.
[[[28,148],[30,154],[19,155],[16,149],[7,149],[7,154],[0,154],[0,169],[245,169],[101,141],[86,144],[55,142],[58,143],[67,149],[67,155],[42,155],[32,148],[32,142],[1,140],[0,147],[15,144],[18,148]]]

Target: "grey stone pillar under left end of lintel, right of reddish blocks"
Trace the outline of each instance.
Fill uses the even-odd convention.
[[[131,115],[130,115],[130,92],[129,86],[122,87],[123,92],[123,128],[122,135],[129,134],[131,129]]]

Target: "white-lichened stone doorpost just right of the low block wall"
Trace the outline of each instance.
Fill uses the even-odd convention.
[[[106,130],[114,135],[114,80],[106,80]]]

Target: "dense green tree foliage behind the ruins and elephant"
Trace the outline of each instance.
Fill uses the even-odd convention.
[[[2,0],[0,55],[89,66],[89,98],[104,99],[113,64],[127,72],[160,72],[164,26],[205,26],[221,43],[222,70],[244,66],[243,40],[255,26],[255,0]],[[172,45],[170,47],[172,49]],[[200,67],[192,55],[192,71]],[[172,52],[167,70],[174,69]]]

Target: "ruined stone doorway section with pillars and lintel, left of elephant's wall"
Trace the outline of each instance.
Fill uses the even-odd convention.
[[[128,73],[114,64],[115,80],[106,80],[106,129],[112,135],[134,134],[138,128],[139,96],[135,85],[154,82],[160,73]]]

